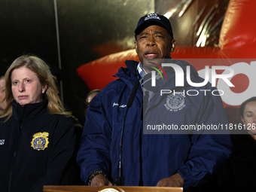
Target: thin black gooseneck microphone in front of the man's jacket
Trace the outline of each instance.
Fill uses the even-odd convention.
[[[125,111],[125,114],[124,114],[124,117],[123,117],[123,126],[122,126],[121,139],[120,139],[118,176],[116,178],[114,178],[113,186],[123,186],[124,185],[123,164],[122,164],[122,147],[123,147],[124,123],[125,123],[127,111],[133,105],[133,100],[136,96],[138,88],[139,88],[139,81],[135,81],[135,83],[133,84],[133,90],[131,91],[128,102],[126,104],[126,111]]]

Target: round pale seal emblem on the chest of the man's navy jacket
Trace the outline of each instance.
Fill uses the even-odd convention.
[[[180,111],[186,105],[184,105],[185,99],[183,94],[171,94],[166,98],[166,104],[164,106],[169,111]]]

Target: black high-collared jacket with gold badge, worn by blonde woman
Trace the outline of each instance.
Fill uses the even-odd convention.
[[[43,185],[72,184],[75,126],[47,111],[47,100],[21,106],[0,118],[0,190],[42,191]]]

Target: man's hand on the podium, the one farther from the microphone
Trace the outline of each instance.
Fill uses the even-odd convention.
[[[178,173],[175,173],[169,178],[163,178],[157,183],[157,187],[183,187],[183,185],[183,178]]]

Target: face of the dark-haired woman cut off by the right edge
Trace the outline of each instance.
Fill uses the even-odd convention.
[[[256,101],[248,102],[245,105],[245,110],[243,111],[243,117],[241,120],[245,123],[248,133],[256,134]]]

